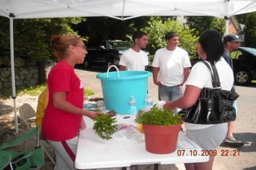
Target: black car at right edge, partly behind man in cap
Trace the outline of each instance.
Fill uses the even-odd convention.
[[[236,85],[249,85],[256,79],[256,49],[239,47],[230,56],[233,60]]]

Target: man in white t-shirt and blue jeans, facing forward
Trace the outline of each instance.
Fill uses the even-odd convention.
[[[174,101],[182,96],[181,87],[190,73],[190,57],[179,48],[178,34],[166,34],[167,46],[154,54],[153,79],[158,85],[159,101]]]

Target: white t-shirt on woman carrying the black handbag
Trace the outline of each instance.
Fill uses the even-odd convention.
[[[208,64],[210,65],[209,62]],[[234,84],[234,74],[230,65],[228,65],[224,58],[221,57],[220,61],[216,62],[215,66],[218,71],[218,77],[221,82],[222,89],[230,90]],[[210,70],[202,62],[198,62],[192,67],[185,84],[194,85],[200,89],[204,87],[213,88]],[[200,129],[208,128],[211,125],[196,125],[185,122],[185,126],[187,129]]]

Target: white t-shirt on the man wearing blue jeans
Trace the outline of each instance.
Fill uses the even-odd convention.
[[[162,85],[174,86],[182,84],[184,68],[191,67],[191,64],[186,50],[176,47],[173,51],[158,49],[154,54],[152,66],[159,68],[158,81],[161,81]]]

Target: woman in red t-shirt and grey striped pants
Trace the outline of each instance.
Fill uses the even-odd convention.
[[[48,75],[49,101],[42,134],[54,147],[54,169],[75,169],[78,131],[85,128],[82,116],[94,119],[99,113],[83,109],[84,88],[74,73],[74,65],[82,64],[87,53],[82,40],[74,35],[53,36],[51,45],[59,61]]]

